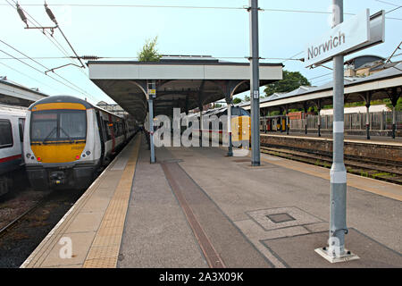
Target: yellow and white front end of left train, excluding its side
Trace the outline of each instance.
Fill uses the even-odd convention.
[[[31,105],[27,114],[24,159],[29,182],[33,189],[87,188],[100,157],[95,110],[80,99],[46,99]]]

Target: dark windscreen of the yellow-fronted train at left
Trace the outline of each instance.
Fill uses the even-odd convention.
[[[32,113],[30,140],[71,141],[86,139],[87,114],[83,110],[37,111]]]

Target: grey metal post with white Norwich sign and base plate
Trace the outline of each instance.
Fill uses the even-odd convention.
[[[343,21],[343,0],[332,0],[332,29],[306,46],[306,66],[333,60],[333,163],[329,246],[315,251],[334,262],[358,259],[345,248],[347,170],[344,164],[344,55],[384,41],[384,13],[370,17],[369,10]]]

